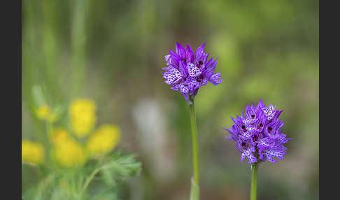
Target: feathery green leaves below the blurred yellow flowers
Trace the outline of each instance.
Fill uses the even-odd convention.
[[[134,155],[117,151],[83,169],[45,172],[36,185],[23,192],[23,199],[120,199],[120,184],[139,176],[141,163]]]

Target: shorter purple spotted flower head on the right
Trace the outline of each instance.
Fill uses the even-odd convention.
[[[290,138],[281,131],[284,122],[278,120],[283,110],[276,106],[264,106],[260,99],[257,105],[246,105],[246,113],[232,118],[234,124],[227,139],[236,141],[236,148],[241,154],[241,162],[247,157],[248,163],[277,162],[274,157],[283,159],[286,148],[283,146]]]

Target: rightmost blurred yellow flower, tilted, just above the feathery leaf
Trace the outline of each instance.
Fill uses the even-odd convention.
[[[87,151],[92,155],[110,152],[120,141],[120,129],[111,124],[103,124],[87,140]]]

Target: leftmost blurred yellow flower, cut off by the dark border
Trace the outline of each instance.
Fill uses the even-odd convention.
[[[43,145],[28,140],[22,141],[22,161],[41,164],[41,162],[43,162],[43,157]]]

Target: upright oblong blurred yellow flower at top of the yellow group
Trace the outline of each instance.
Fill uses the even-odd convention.
[[[92,131],[96,123],[96,104],[90,99],[76,99],[69,108],[71,127],[76,136],[82,137]]]

